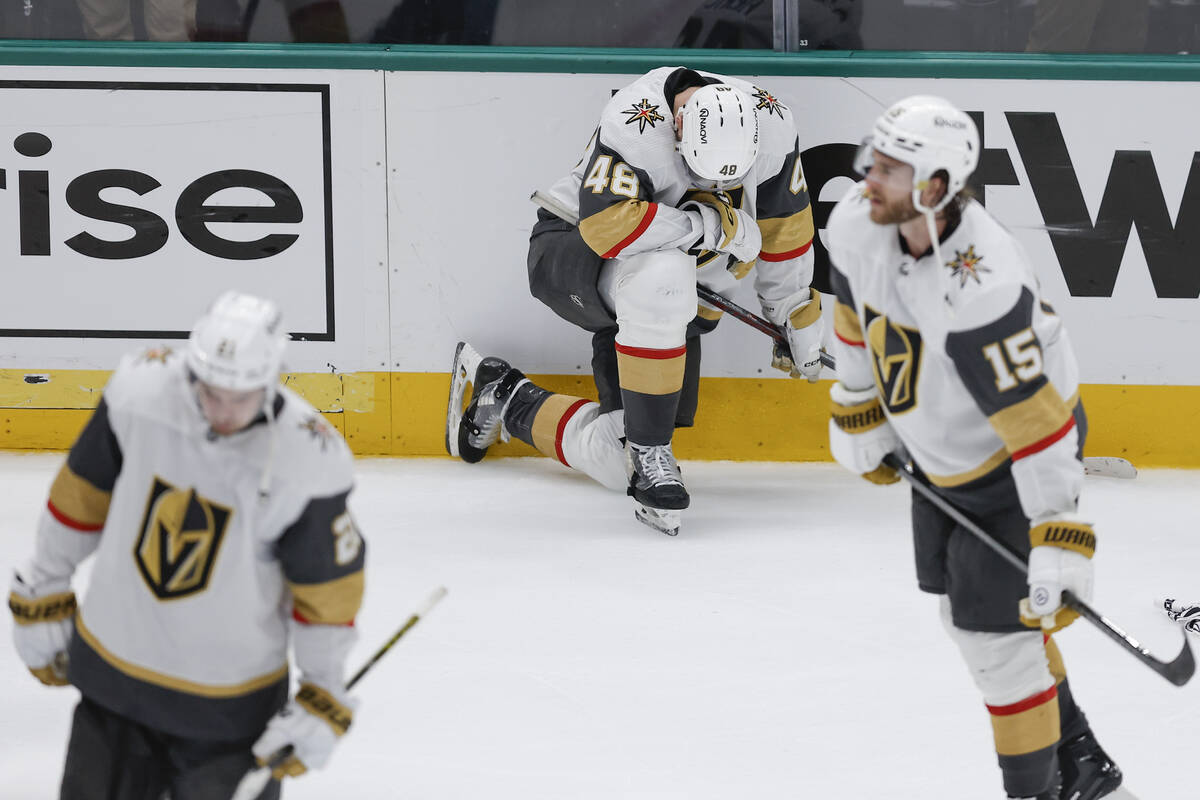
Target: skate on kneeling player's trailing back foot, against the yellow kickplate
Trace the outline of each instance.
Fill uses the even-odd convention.
[[[450,372],[450,401],[446,404],[446,452],[468,464],[481,461],[487,449],[508,441],[504,407],[526,377],[504,359],[481,357],[473,347],[458,342]],[[470,403],[462,401],[470,383]]]

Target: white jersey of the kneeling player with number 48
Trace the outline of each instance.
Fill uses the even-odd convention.
[[[688,85],[680,79],[692,76],[737,86],[756,101],[758,157],[742,185],[726,191],[734,206],[758,221],[758,295],[785,300],[812,281],[812,209],[792,112],[766,89],[685,67],[652,70],[612,96],[583,157],[550,193],[577,212],[583,240],[604,258],[692,247],[698,233],[677,206],[713,186],[698,184],[676,151],[671,103],[673,86]],[[734,265],[728,261],[724,254],[700,253],[697,281],[716,291],[731,290],[750,265],[731,272],[726,267]]]

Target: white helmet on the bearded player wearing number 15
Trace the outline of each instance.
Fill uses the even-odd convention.
[[[948,100],[914,95],[883,112],[863,142],[854,168],[863,175],[872,151],[912,166],[912,204],[918,211],[940,211],[966,186],[979,164],[979,131],[974,120]],[[935,207],[920,204],[920,193],[940,170],[949,176],[946,196]]]

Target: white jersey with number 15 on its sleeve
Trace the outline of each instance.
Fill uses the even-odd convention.
[[[875,385],[917,465],[943,489],[1012,469],[1031,519],[1073,511],[1079,369],[1028,257],[982,205],[910,254],[871,222],[864,184],[829,218],[838,378]]]

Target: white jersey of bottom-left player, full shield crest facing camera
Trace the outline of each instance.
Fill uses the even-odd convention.
[[[352,456],[281,386],[274,414],[209,432],[182,359],[126,359],[59,471],[32,569],[70,577],[95,552],[70,645],[86,697],[175,735],[251,738],[306,678],[341,688],[365,546],[347,511]],[[306,633],[305,636],[312,636]]]

